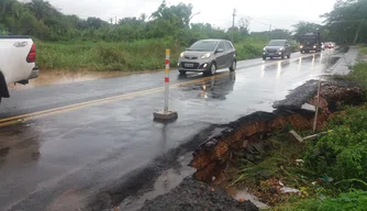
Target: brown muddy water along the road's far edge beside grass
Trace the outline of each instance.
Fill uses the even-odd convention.
[[[10,85],[9,88],[11,90],[32,89],[40,86],[63,85],[63,84],[80,82],[80,81],[96,80],[101,78],[114,78],[114,77],[131,76],[131,75],[147,74],[147,73],[154,73],[154,71],[152,70],[146,70],[146,71],[41,70],[38,78],[30,80],[30,84],[27,84],[26,86]]]

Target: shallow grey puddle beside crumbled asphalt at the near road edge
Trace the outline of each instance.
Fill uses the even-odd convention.
[[[120,209],[135,211],[144,206],[146,200],[152,200],[160,195],[169,192],[181,184],[184,178],[192,175],[196,169],[188,166],[192,159],[192,152],[179,158],[180,166],[164,170],[154,182],[153,190],[146,190],[140,196],[129,197],[121,204]]]

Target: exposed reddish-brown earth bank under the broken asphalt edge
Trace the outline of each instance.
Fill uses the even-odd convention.
[[[276,102],[273,113],[255,112],[230,123],[220,136],[208,140],[194,152],[190,164],[197,169],[194,178],[210,184],[220,180],[232,152],[251,147],[271,132],[288,132],[290,127],[299,131],[312,129],[314,112],[302,109],[302,106],[315,106],[316,90],[318,81],[308,81],[293,90],[286,100]],[[324,126],[338,104],[357,104],[362,101],[363,91],[355,85],[324,81],[321,86],[318,129]]]

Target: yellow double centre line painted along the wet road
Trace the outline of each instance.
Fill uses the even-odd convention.
[[[301,56],[301,57],[303,58],[303,57],[307,57],[307,56]],[[289,60],[289,59],[287,59],[287,60]],[[264,63],[263,62],[263,63],[259,63],[259,64],[243,66],[243,67],[240,67],[238,69],[260,66],[260,65],[265,65],[265,64],[266,65],[271,65],[271,64],[277,64],[279,62],[281,63],[283,60],[275,60],[275,62],[270,62],[270,63]],[[193,79],[193,80],[184,81],[184,82],[176,82],[176,84],[170,85],[170,88],[179,88],[179,87],[185,87],[185,86],[189,86],[189,85],[193,85],[193,84],[205,82],[205,81],[210,81],[212,79],[229,76],[230,74],[232,74],[232,73],[227,71],[227,73],[222,73],[222,74],[211,76],[211,77],[204,77],[204,78]],[[68,112],[68,111],[79,110],[79,109],[82,109],[82,108],[86,108],[86,107],[101,104],[101,103],[105,103],[105,102],[110,102],[110,101],[114,101],[114,100],[122,100],[122,99],[129,99],[129,98],[138,97],[138,96],[143,96],[143,95],[147,95],[147,93],[154,93],[154,92],[158,92],[158,91],[163,91],[163,90],[164,90],[164,87],[162,86],[162,87],[156,87],[156,88],[146,89],[146,90],[142,90],[142,91],[135,91],[135,92],[131,92],[131,93],[123,93],[123,95],[102,98],[102,99],[98,99],[98,100],[90,100],[90,101],[69,104],[69,106],[65,106],[65,107],[58,107],[58,108],[54,108],[54,109],[48,109],[48,110],[43,110],[43,111],[15,115],[15,116],[11,116],[11,118],[0,119],[0,127],[12,125],[12,124],[18,124],[18,123],[21,123],[21,122],[26,122],[26,121],[30,121],[30,120],[33,120],[33,119],[40,119],[40,118],[44,118],[44,116],[48,116],[48,115],[53,115],[53,114],[57,114],[57,113],[64,113],[64,112]]]

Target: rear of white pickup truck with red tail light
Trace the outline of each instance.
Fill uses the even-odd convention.
[[[38,77],[35,44],[30,36],[0,35],[0,102],[9,98],[8,85],[26,85]]]

